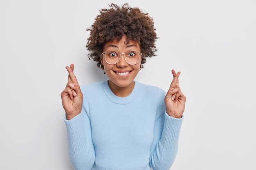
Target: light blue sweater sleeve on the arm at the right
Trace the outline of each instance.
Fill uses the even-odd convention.
[[[157,118],[154,125],[153,143],[150,148],[149,164],[153,170],[169,170],[178,150],[178,139],[184,116],[173,118],[166,113],[164,96],[160,89],[160,101],[157,102]]]

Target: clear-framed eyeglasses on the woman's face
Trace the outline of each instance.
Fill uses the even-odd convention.
[[[108,50],[106,52],[103,52],[102,55],[104,55],[105,60],[109,64],[116,64],[121,59],[121,54],[124,54],[125,61],[130,65],[135,65],[139,62],[142,53],[137,51],[128,51],[126,53],[121,53],[116,50]]]

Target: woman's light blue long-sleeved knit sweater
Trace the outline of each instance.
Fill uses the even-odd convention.
[[[75,170],[169,170],[178,150],[182,118],[168,116],[166,92],[135,81],[126,97],[107,81],[81,86],[83,107],[64,122]]]

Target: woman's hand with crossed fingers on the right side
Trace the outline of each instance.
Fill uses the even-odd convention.
[[[166,113],[169,116],[172,116],[174,118],[181,118],[182,114],[185,110],[185,102],[186,97],[181,92],[181,89],[179,87],[179,76],[180,72],[175,73],[174,70],[172,70],[173,73],[173,81],[171,82],[170,88],[168,89],[168,92],[166,94],[166,97],[164,98],[165,102],[165,108]],[[177,89],[177,91],[173,91],[173,89]]]

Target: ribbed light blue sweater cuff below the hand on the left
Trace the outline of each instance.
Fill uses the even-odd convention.
[[[85,137],[85,122],[82,113],[79,113],[71,120],[67,120],[64,115],[64,122],[67,127],[67,142],[70,144],[69,150],[79,152],[88,146]],[[85,142],[86,141],[86,142]]]

